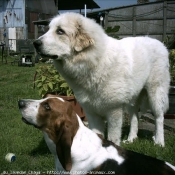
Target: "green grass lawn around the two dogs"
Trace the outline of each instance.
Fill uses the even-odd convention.
[[[8,62],[10,58],[8,58]],[[54,170],[54,159],[50,154],[42,132],[21,121],[18,99],[39,99],[38,91],[33,89],[35,70],[38,67],[18,67],[3,64],[0,57],[0,174],[4,171]],[[126,123],[126,122],[125,122]],[[125,127],[126,131],[128,126]],[[126,138],[127,132],[123,137]],[[160,158],[175,165],[175,132],[165,135],[166,147],[155,146],[151,135],[139,133],[139,139],[123,147]],[[78,148],[77,148],[78,149]],[[5,155],[12,152],[16,161],[5,161]],[[43,173],[44,174],[44,173]]]

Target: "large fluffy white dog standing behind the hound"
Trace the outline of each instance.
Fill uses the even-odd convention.
[[[156,120],[154,141],[164,146],[163,120],[168,109],[168,51],[156,39],[129,37],[116,40],[93,20],[76,13],[58,15],[46,34],[34,42],[73,89],[91,129],[104,132],[120,144],[122,115],[131,116],[128,141],[138,132],[138,110],[148,99]],[[144,98],[143,98],[144,97]],[[148,97],[148,98],[145,98]]]

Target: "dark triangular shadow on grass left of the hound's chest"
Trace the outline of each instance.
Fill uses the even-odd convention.
[[[39,143],[39,145],[31,151],[30,155],[35,156],[35,155],[45,155],[45,154],[51,154],[51,152],[49,151],[49,148],[47,147],[46,142],[43,138]]]

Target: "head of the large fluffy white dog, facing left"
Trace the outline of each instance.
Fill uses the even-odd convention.
[[[78,13],[64,13],[52,19],[48,32],[38,38],[34,46],[43,57],[72,58],[102,44],[99,41],[103,36],[103,29],[94,20]]]

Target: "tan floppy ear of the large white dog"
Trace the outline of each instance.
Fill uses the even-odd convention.
[[[75,51],[80,52],[93,44],[94,40],[87,33],[83,32],[81,27],[79,27],[77,34],[75,35]]]

